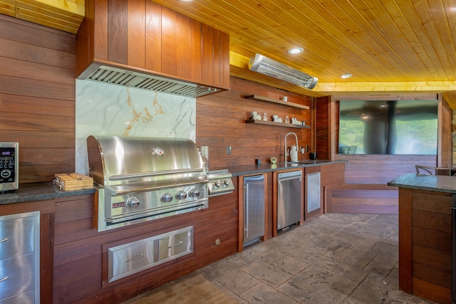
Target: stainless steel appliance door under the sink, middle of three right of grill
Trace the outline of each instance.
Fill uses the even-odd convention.
[[[277,174],[277,230],[301,221],[302,172]]]

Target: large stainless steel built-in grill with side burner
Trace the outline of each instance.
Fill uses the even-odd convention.
[[[87,145],[98,188],[98,231],[205,209],[210,195],[234,189],[227,171],[209,182],[191,140],[90,136]]]

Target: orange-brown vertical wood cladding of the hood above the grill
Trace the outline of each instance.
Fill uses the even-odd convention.
[[[229,88],[227,33],[152,1],[86,2],[77,75],[98,62]]]

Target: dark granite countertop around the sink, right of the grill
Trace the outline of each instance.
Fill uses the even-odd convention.
[[[314,167],[314,166],[321,166],[324,164],[337,164],[341,162],[346,162],[344,160],[341,161],[330,161],[330,160],[323,160],[323,159],[316,159],[316,160],[304,160],[299,163],[296,162],[277,162],[276,164],[246,164],[243,166],[233,166],[233,167],[224,167],[219,169],[228,169],[228,172],[231,173],[234,177],[240,175],[247,175],[247,174],[259,174],[265,172],[273,172],[279,171],[284,169],[299,169],[305,167]],[[211,168],[212,170],[212,168]]]

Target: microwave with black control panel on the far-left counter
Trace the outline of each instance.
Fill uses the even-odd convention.
[[[19,188],[19,143],[0,142],[0,192]]]

